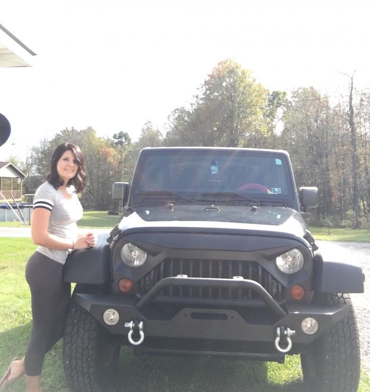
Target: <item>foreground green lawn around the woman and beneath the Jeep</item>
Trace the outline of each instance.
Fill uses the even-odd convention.
[[[27,238],[0,238],[0,375],[10,360],[24,354],[31,330],[31,307],[24,277],[28,257],[36,246]],[[67,392],[58,342],[46,355],[41,377],[44,392]],[[23,392],[24,377],[4,392]],[[114,391],[245,391],[297,392],[303,390],[299,356],[284,364],[216,358],[136,357],[122,348]],[[361,375],[360,392],[370,390],[370,378]],[[108,392],[108,390],[106,391]]]

